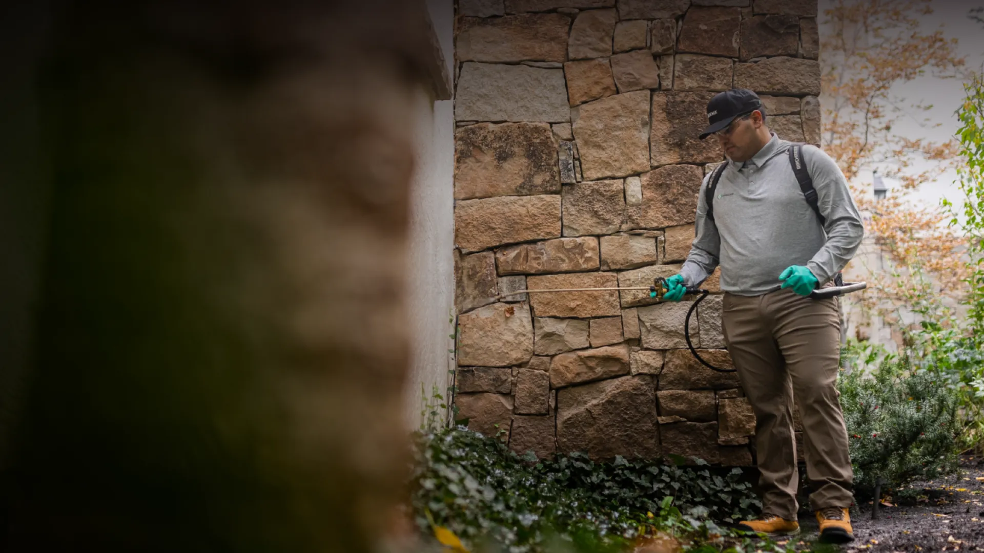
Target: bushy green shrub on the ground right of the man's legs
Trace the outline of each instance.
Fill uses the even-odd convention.
[[[841,372],[837,389],[858,499],[872,497],[879,478],[897,497],[915,480],[957,470],[958,399],[940,375],[888,358],[870,373]]]

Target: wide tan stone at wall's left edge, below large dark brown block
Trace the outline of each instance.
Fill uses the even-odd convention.
[[[560,195],[461,200],[455,206],[455,243],[464,252],[474,252],[558,238],[560,205]]]

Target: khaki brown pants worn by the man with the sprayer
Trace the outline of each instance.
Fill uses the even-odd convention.
[[[839,302],[784,289],[760,296],[725,294],[724,339],[757,418],[755,444],[763,510],[796,520],[793,395],[803,419],[807,479],[814,510],[851,504],[851,461],[840,411]]]

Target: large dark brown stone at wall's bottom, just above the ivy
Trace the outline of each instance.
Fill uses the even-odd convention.
[[[652,378],[605,380],[557,393],[557,448],[591,459],[659,457]]]

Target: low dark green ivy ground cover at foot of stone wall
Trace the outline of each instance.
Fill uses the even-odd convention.
[[[536,461],[463,428],[418,433],[415,444],[420,529],[445,526],[465,542],[510,552],[543,551],[551,536],[579,551],[620,551],[643,524],[726,533],[705,521],[734,522],[761,507],[738,468],[593,462],[582,454]]]

